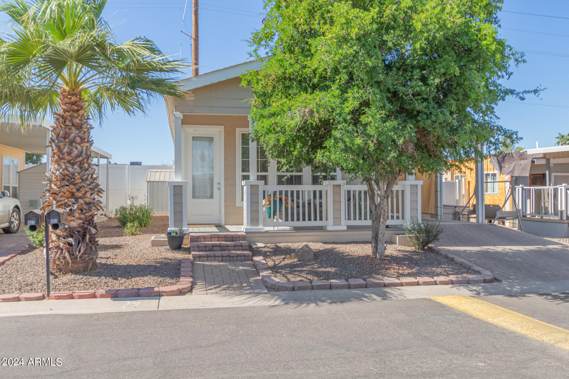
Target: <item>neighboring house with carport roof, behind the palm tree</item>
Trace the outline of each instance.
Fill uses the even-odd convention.
[[[0,178],[2,190],[10,192],[19,199],[22,212],[26,213],[40,205],[40,197],[46,188],[48,164],[26,167],[26,153],[49,154],[47,148],[52,123],[38,120],[32,126],[23,129],[20,124],[2,122],[0,124]],[[110,159],[112,155],[96,146],[92,147],[94,163]],[[105,202],[105,199],[103,199]]]

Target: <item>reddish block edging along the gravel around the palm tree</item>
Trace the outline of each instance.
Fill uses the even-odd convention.
[[[182,258],[182,266],[180,268],[180,282],[173,286],[164,286],[159,288],[141,288],[141,289],[128,288],[121,290],[52,292],[50,294],[50,299],[70,300],[70,299],[116,298],[116,297],[120,298],[120,297],[174,296],[179,294],[187,294],[192,289],[192,284],[193,284],[192,258],[188,257],[188,258]],[[14,301],[32,301],[32,300],[43,300],[43,294],[13,293],[13,294],[0,295],[0,303],[14,302]]]

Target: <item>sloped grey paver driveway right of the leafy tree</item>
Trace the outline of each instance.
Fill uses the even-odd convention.
[[[436,245],[501,281],[569,280],[569,245],[493,224],[442,222]]]

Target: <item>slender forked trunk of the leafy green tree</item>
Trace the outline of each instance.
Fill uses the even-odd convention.
[[[395,180],[374,183],[367,180],[372,212],[372,255],[377,259],[385,258],[385,228],[387,226],[387,201],[395,184]]]

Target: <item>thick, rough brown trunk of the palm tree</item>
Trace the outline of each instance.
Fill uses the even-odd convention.
[[[101,186],[91,164],[89,116],[80,90],[60,91],[61,113],[54,113],[51,131],[50,173],[43,194],[44,211],[68,210],[68,227],[50,233],[50,255],[57,272],[82,272],[96,266],[97,226],[94,216],[101,210]]]

